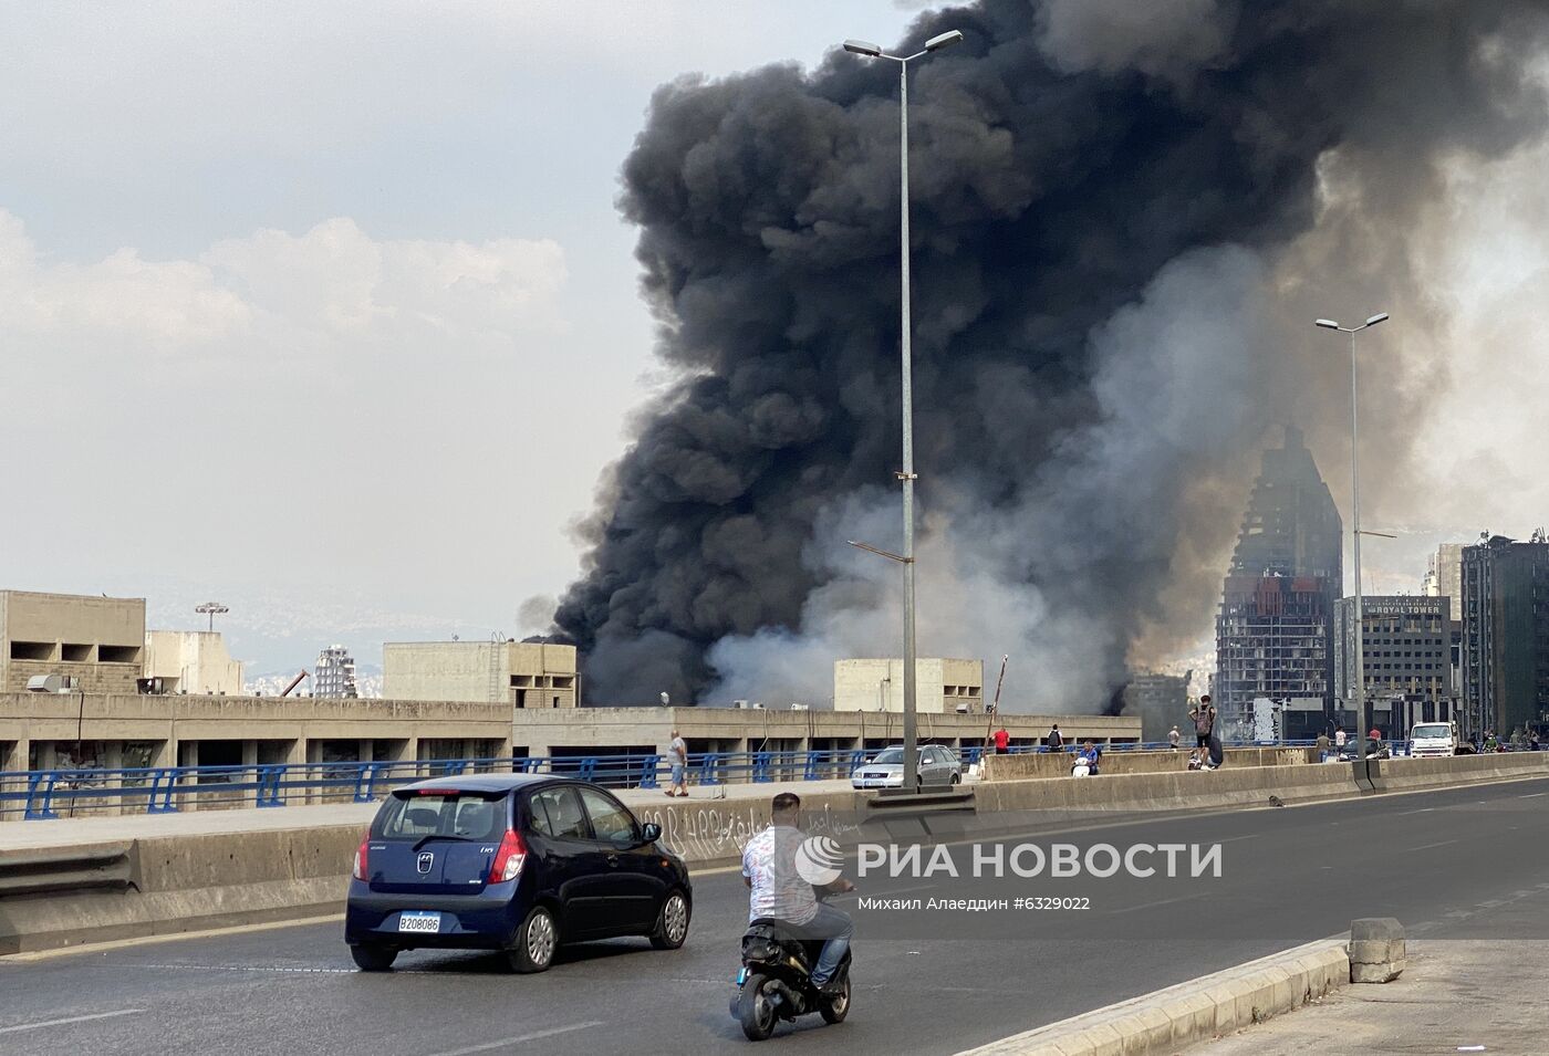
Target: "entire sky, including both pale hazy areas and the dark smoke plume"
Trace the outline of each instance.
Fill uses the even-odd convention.
[[[900,533],[895,79],[830,48],[948,26],[911,82],[922,653],[1095,708],[1196,652],[1278,423],[1348,508],[1315,316],[1394,314],[1368,588],[1549,520],[1541,5],[920,8],[0,9],[0,585],[235,601],[239,657],[305,649],[273,667],[562,598],[593,698],[821,701],[898,649],[843,542]]]

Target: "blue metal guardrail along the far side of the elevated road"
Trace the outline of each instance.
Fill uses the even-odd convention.
[[[1304,746],[1310,740],[1278,742]],[[1235,745],[1233,745],[1235,746]],[[1168,742],[1114,743],[1103,751],[1168,749]],[[1180,746],[1182,748],[1182,746]],[[1073,753],[1067,743],[1060,751]],[[699,785],[731,782],[827,780],[849,777],[878,749],[692,753],[685,777]],[[963,766],[988,748],[957,749]],[[1050,751],[1046,745],[1010,745],[1007,754]],[[274,808],[288,802],[366,804],[426,777],[480,773],[564,774],[617,788],[660,788],[671,779],[666,756],[548,756],[513,759],[421,759],[409,762],[257,763],[252,766],[60,768],[0,773],[0,819],[25,821],[102,810],[177,813],[186,805]]]

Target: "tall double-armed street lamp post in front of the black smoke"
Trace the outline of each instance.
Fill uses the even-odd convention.
[[[923,51],[891,56],[880,45],[846,40],[844,50],[869,59],[898,63],[898,273],[900,273],[900,356],[903,359],[903,783],[902,791],[919,791],[919,740],[914,729],[914,389],[909,364],[909,63],[932,51],[957,43],[957,29],[931,37]]]

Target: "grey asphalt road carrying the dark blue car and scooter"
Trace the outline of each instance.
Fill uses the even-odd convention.
[[[1284,810],[1173,814],[1106,842],[1222,841],[1205,898],[1066,915],[1030,938],[861,938],[846,1023],[805,1017],[784,1053],[957,1053],[1030,1027],[1399,917],[1428,938],[1549,932],[1549,779]],[[917,881],[869,878],[861,893]],[[855,897],[849,897],[853,900]],[[1135,912],[1139,910],[1139,912]],[[750,1042],[726,1011],[747,912],[733,872],[696,879],[682,951],[643,940],[568,949],[544,975],[494,957],[412,952],[353,971],[339,924],[307,924],[0,962],[0,1053],[720,1053]],[[1114,915],[1111,917],[1109,912]],[[1197,921],[1197,938],[1115,934],[1114,918]],[[1117,929],[1123,932],[1123,929]],[[1193,932],[1193,927],[1185,929]]]

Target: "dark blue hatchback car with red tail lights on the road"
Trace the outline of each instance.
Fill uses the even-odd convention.
[[[355,856],[344,941],[364,971],[421,946],[497,949],[541,972],[561,943],[688,938],[688,867],[604,788],[538,774],[437,777],[376,811]]]

